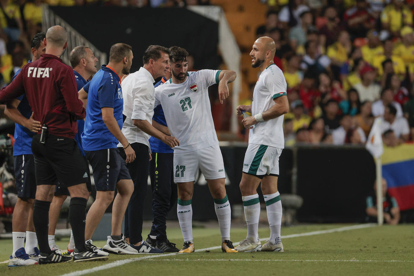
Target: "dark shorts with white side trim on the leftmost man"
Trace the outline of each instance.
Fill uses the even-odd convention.
[[[17,197],[34,199],[36,196],[36,176],[33,154],[14,156],[14,177],[16,178]]]

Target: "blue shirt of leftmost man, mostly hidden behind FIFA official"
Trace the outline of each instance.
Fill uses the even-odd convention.
[[[29,60],[31,63],[31,60]],[[20,73],[20,69],[14,74],[13,79]],[[17,110],[26,118],[30,118],[31,116],[31,107],[29,105],[29,101],[27,101],[26,94],[23,94],[17,99],[20,101],[19,105],[17,106]],[[23,155],[23,154],[32,154],[31,152],[31,140],[34,136],[34,132],[31,132],[26,127],[14,123],[14,145],[13,145],[13,156]]]

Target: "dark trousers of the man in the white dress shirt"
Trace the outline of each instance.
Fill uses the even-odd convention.
[[[137,156],[134,161],[127,164],[132,182],[134,182],[134,192],[132,192],[130,202],[125,211],[125,237],[129,237],[130,243],[134,244],[142,241],[142,215],[144,213],[144,198],[147,194],[148,186],[148,166],[149,154],[148,146],[141,143],[132,143],[132,149]],[[126,158],[122,148],[118,148],[122,158]]]

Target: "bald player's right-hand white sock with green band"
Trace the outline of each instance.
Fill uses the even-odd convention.
[[[264,194],[266,202],[267,220],[270,226],[269,242],[277,244],[281,242],[280,227],[282,225],[282,201],[279,192]]]

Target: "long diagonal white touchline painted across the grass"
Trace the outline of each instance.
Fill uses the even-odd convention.
[[[328,230],[319,230],[319,231],[312,231],[312,232],[306,232],[306,233],[300,233],[300,234],[286,235],[286,236],[282,236],[281,238],[282,239],[287,239],[287,238],[296,238],[296,237],[303,237],[303,236],[310,236],[310,235],[319,235],[319,234],[325,234],[325,233],[342,232],[342,231],[347,231],[347,230],[373,227],[373,226],[376,226],[376,225],[377,225],[376,223],[357,224],[357,225],[353,225],[353,226],[345,226],[345,227],[333,228],[333,229],[328,229]],[[266,240],[266,239],[260,239],[260,240]],[[234,245],[238,245],[238,242],[235,242]],[[214,249],[219,249],[219,248],[221,248],[221,246],[207,247],[207,248],[195,250],[195,252],[202,252],[202,251],[205,251],[205,250],[214,250]],[[112,263],[109,263],[109,264],[104,264],[104,265],[101,265],[101,266],[95,266],[95,267],[90,268],[90,269],[84,269],[84,270],[70,272],[70,273],[67,273],[67,274],[62,274],[61,276],[84,275],[84,274],[89,274],[89,273],[93,273],[93,272],[100,271],[100,270],[110,269],[110,268],[113,268],[113,267],[116,267],[116,266],[121,266],[123,264],[128,264],[130,262],[140,261],[140,260],[144,260],[144,259],[153,259],[153,258],[159,258],[159,257],[172,256],[172,255],[177,255],[177,254],[181,254],[181,253],[151,254],[151,255],[144,256],[144,257],[136,257],[136,258],[118,260],[118,261],[115,261],[115,262],[112,262]]]

